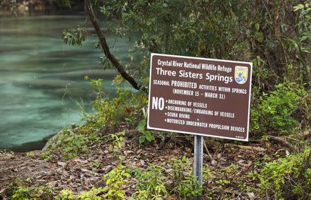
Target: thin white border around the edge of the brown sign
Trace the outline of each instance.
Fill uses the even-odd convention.
[[[165,56],[165,57],[178,57],[178,58],[185,58],[185,59],[197,59],[197,60],[206,60],[206,61],[223,61],[223,62],[234,62],[234,63],[243,63],[243,64],[249,64],[250,66],[250,76],[249,76],[249,97],[248,97],[248,112],[247,112],[247,136],[245,139],[238,139],[234,137],[222,137],[218,135],[213,134],[202,134],[202,133],[194,133],[194,132],[187,132],[182,130],[171,130],[171,129],[165,129],[165,128],[155,128],[149,126],[149,114],[150,114],[150,95],[151,95],[151,67],[152,67],[152,57],[153,56]],[[249,139],[249,110],[250,110],[250,99],[252,94],[252,70],[253,70],[253,63],[251,62],[243,62],[243,61],[230,61],[230,60],[222,60],[222,59],[207,59],[207,58],[201,58],[201,57],[186,57],[186,56],[178,56],[178,55],[172,55],[172,54],[158,54],[158,53],[151,53],[150,57],[150,74],[149,74],[149,96],[148,96],[148,117],[147,117],[147,128],[151,130],[163,130],[168,132],[180,132],[185,134],[193,134],[193,135],[200,135],[200,136],[206,136],[206,137],[216,137],[221,139],[232,139],[237,141],[248,141]]]

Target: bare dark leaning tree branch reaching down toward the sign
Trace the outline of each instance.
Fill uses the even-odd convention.
[[[97,18],[95,16],[95,12],[93,10],[93,6],[91,4],[91,1],[85,0],[84,1],[84,7],[85,7],[86,12],[88,13],[88,16],[91,19],[91,22],[92,22],[94,28],[95,28],[95,32],[97,34],[98,39],[100,40],[100,45],[102,46],[102,49],[104,50],[104,54],[106,55],[106,57],[111,61],[111,63],[113,63],[113,66],[115,66],[115,68],[121,74],[121,76],[126,81],[131,83],[133,88],[135,88],[136,90],[142,90],[142,91],[146,92],[147,89],[144,87],[138,86],[138,83],[135,81],[135,79],[133,79],[133,77],[131,77],[124,70],[124,67],[120,64],[120,62],[113,56],[113,54],[111,54],[111,52],[109,50],[109,46],[107,45],[107,42],[106,42],[106,37],[104,36],[104,33],[100,29],[100,25],[99,25]]]

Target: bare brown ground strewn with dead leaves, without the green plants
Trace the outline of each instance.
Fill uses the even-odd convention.
[[[136,130],[126,130],[122,142],[122,163],[124,166],[146,168],[149,163],[162,166],[167,175],[167,186],[172,183],[171,159],[186,156],[193,161],[193,137],[175,134],[165,141],[156,141],[140,146]],[[234,143],[232,141],[205,138],[204,164],[211,174],[204,183],[205,195],[213,191],[218,199],[258,199],[260,194],[247,192],[245,188],[257,188],[247,174],[258,168],[258,163],[276,159],[275,155],[284,156],[290,153],[290,148],[279,142],[267,143],[261,140]],[[208,152],[207,152],[208,150]],[[119,159],[113,155],[109,142],[102,140],[88,146],[86,152],[69,161],[63,161],[59,155],[53,154],[51,161],[40,159],[41,151],[33,152],[33,157],[26,153],[0,152],[0,194],[4,194],[12,181],[18,178],[31,180],[31,186],[50,186],[56,190],[70,188],[74,192],[104,187],[102,176],[115,168]],[[97,163],[93,166],[91,163]],[[232,170],[230,166],[236,166]],[[219,180],[229,183],[221,183]],[[131,197],[135,190],[133,180],[126,187],[126,197]],[[0,195],[1,196],[1,195]],[[173,197],[172,197],[173,198]],[[173,198],[174,199],[174,198]],[[177,197],[176,197],[177,199]]]

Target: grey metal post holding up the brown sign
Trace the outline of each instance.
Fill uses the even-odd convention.
[[[203,183],[203,137],[200,135],[194,136],[194,177],[197,177],[197,190],[202,187]],[[202,192],[194,200],[202,200]]]

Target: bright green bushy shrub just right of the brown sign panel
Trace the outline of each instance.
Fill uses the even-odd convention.
[[[307,100],[307,92],[302,86],[294,82],[279,83],[274,91],[253,99],[252,131],[290,132],[305,117],[296,113]]]

